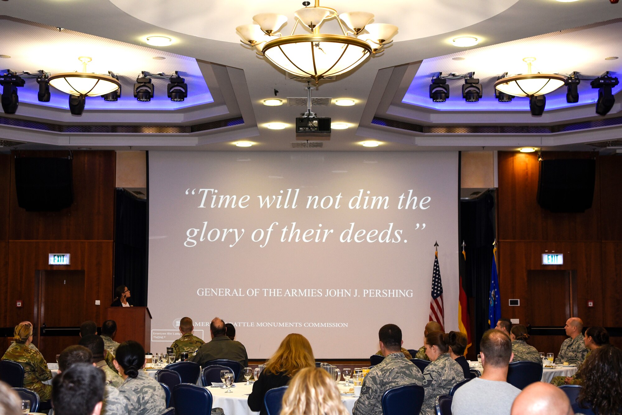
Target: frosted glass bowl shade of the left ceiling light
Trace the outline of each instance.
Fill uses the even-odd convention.
[[[119,81],[95,73],[68,72],[50,76],[50,85],[71,95],[100,96],[119,89]]]

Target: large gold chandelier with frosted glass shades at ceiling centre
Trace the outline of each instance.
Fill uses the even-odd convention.
[[[305,7],[294,12],[290,35],[279,32],[287,16],[274,13],[257,14],[253,16],[256,24],[240,25],[236,30],[243,39],[241,42],[255,47],[258,55],[290,73],[309,76],[315,83],[325,76],[345,73],[363,63],[370,54],[382,52],[397,32],[397,26],[392,24],[369,24],[374,15],[368,12],[338,14],[335,9],[320,6],[319,0],[311,7],[309,1],[302,4]],[[343,34],[321,34],[322,22],[335,17]],[[309,27],[311,33],[294,34],[299,23]]]

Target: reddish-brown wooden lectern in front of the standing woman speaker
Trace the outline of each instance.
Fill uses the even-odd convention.
[[[106,320],[114,320],[117,334],[114,341],[136,340],[145,352],[151,352],[151,312],[146,307],[108,307]]]

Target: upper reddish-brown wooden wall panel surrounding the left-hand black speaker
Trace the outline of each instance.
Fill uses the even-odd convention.
[[[65,157],[68,152],[19,152],[19,155]],[[113,151],[73,152],[73,204],[60,212],[26,212],[17,204],[11,180],[11,240],[113,240]],[[14,171],[12,163],[11,171]]]

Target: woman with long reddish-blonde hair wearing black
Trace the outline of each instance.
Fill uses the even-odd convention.
[[[248,407],[251,411],[267,415],[264,405],[266,392],[287,385],[292,376],[305,367],[315,367],[309,340],[302,334],[288,334],[253,384],[253,393],[248,396]]]

